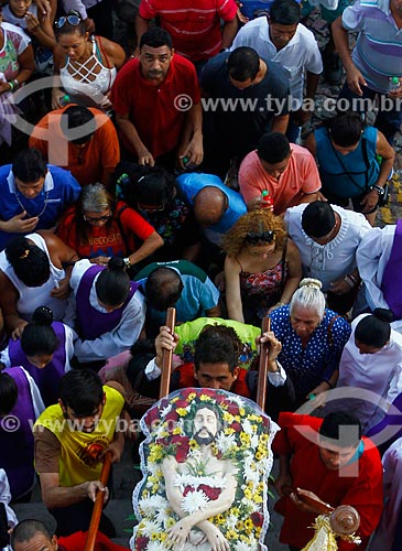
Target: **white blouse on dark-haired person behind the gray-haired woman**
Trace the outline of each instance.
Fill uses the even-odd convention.
[[[327,292],[330,282],[356,269],[356,250],[363,236],[372,228],[362,214],[333,205],[340,216],[340,228],[334,239],[326,245],[319,245],[302,228],[302,215],[306,206],[307,204],[303,203],[287,208],[284,223],[289,236],[300,251],[303,276],[322,281],[323,292]]]

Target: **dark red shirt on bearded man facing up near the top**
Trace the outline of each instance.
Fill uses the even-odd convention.
[[[166,78],[160,85],[142,76],[139,60],[130,60],[118,73],[111,89],[111,102],[118,115],[129,115],[141,141],[154,158],[178,145],[187,111],[175,107],[175,98],[187,95],[193,105],[200,100],[194,65],[174,54]],[[131,144],[122,134],[127,149]]]

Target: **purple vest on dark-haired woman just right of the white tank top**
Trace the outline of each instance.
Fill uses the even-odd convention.
[[[105,333],[109,333],[119,325],[121,316],[132,295],[140,287],[139,283],[130,282],[130,292],[124,304],[112,312],[99,312],[89,302],[89,293],[96,276],[105,270],[104,266],[93,266],[83,276],[76,295],[77,307],[77,333],[83,341],[94,341]]]

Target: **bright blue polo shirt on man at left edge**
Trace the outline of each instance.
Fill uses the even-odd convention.
[[[48,164],[43,188],[33,198],[24,197],[17,190],[11,169],[11,164],[0,168],[0,218],[4,222],[21,214],[24,208],[28,218],[39,216],[37,226],[31,231],[48,229],[56,224],[64,210],[78,199],[80,185],[64,169]],[[3,250],[7,244],[19,235],[21,234],[0,231],[0,250]]]

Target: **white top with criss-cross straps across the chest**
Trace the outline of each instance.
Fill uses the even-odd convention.
[[[72,101],[80,105],[99,106],[105,94],[107,94],[115,82],[116,67],[105,67],[101,63],[100,54],[97,52],[95,37],[93,40],[93,54],[83,64],[73,65],[67,56],[67,63],[61,67],[59,75],[63,88],[69,95]]]

